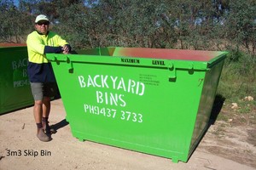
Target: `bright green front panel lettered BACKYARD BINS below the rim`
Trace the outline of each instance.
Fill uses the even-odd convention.
[[[67,62],[52,65],[75,137],[187,161],[201,71],[178,70],[170,82],[168,69],[84,61],[70,72]]]

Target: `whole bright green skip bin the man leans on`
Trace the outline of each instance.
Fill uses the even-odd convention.
[[[227,52],[94,48],[47,54],[73,136],[188,161],[212,111]]]

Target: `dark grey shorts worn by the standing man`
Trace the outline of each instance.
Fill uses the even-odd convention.
[[[30,82],[34,100],[43,100],[44,97],[54,97],[58,92],[56,82]]]

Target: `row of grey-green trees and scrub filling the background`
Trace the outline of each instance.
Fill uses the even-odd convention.
[[[4,0],[1,41],[19,42],[47,14],[78,48],[107,46],[222,50],[255,55],[254,0]]]

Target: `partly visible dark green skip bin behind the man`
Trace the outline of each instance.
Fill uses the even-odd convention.
[[[0,44],[0,115],[33,105],[26,67],[26,47]]]

